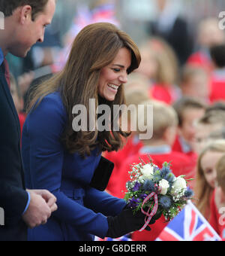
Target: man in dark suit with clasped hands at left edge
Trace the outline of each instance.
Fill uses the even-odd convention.
[[[25,57],[33,44],[43,41],[55,0],[0,0],[0,11],[5,16],[5,27],[0,29],[0,209],[5,215],[0,241],[26,240],[27,227],[45,224],[57,206],[49,191],[26,190],[20,123],[10,95],[5,56]]]

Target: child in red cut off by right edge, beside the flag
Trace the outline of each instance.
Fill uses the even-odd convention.
[[[225,241],[225,155],[220,157],[216,166],[217,187],[211,198],[210,224]]]

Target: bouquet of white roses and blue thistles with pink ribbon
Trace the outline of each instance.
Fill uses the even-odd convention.
[[[133,214],[142,211],[146,215],[145,225],[139,230],[142,231],[154,215],[157,218],[164,215],[166,221],[174,218],[187,204],[187,200],[193,197],[193,191],[187,187],[184,175],[175,177],[170,163],[163,163],[160,169],[150,157],[148,163],[140,161],[131,166],[124,200],[133,209]],[[148,211],[145,212],[145,209]]]

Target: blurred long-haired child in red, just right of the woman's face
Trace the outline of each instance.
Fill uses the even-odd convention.
[[[176,87],[178,60],[174,51],[160,38],[151,38],[140,47],[142,62],[137,70],[149,79],[149,95],[172,104],[180,96]]]

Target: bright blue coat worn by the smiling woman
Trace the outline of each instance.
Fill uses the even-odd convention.
[[[23,127],[26,186],[46,189],[57,198],[58,210],[45,225],[28,230],[29,240],[89,241],[107,234],[107,216],[118,215],[124,200],[89,186],[101,154],[83,159],[69,154],[61,142],[67,113],[59,93],[46,96],[28,114]]]

